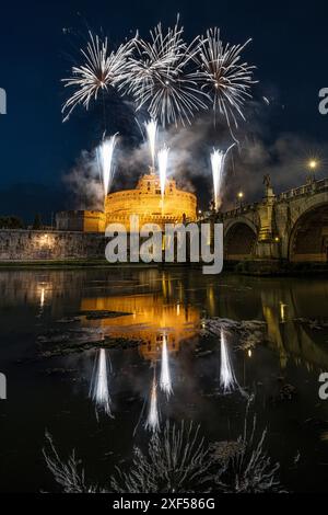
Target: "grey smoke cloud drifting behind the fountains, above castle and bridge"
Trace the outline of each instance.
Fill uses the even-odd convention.
[[[251,102],[247,122],[236,130],[238,144],[226,159],[223,184],[223,209],[236,205],[236,196],[243,191],[245,203],[261,199],[262,178],[270,174],[276,193],[305,183],[306,160],[318,154],[325,163],[328,145],[319,148],[305,137],[281,134],[270,139],[271,106],[266,102]],[[136,126],[136,119],[133,119]],[[141,174],[148,173],[151,157],[148,141],[142,137],[143,123],[139,123],[140,138],[132,140],[121,136],[115,151],[115,176],[112,191],[136,187]],[[136,142],[137,140],[137,142]],[[212,113],[196,118],[192,126],[174,126],[159,130],[157,149],[164,144],[169,147],[168,176],[177,181],[179,187],[197,193],[200,207],[207,209],[212,198],[212,172],[210,153],[213,148],[225,150],[233,136],[226,126],[213,124]],[[319,173],[324,175],[323,165]],[[103,186],[95,158],[95,150],[83,151],[77,165],[65,178],[67,186],[74,195],[74,207],[99,209],[103,207]]]

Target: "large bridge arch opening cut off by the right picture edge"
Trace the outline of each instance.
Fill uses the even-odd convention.
[[[291,262],[328,261],[328,202],[314,204],[294,222],[289,241]]]

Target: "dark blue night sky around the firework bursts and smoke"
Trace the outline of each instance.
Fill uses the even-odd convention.
[[[78,57],[79,35],[87,27],[102,28],[116,44],[137,28],[145,36],[159,21],[173,24],[177,12],[188,38],[213,25],[231,43],[254,38],[245,53],[258,68],[254,95],[272,99],[269,113],[260,117],[266,145],[274,146],[289,134],[292,145],[306,142],[308,149],[300,144],[304,151],[325,148],[328,117],[318,112],[318,91],[328,87],[328,4],[321,1],[4,2],[0,87],[7,90],[8,114],[0,116],[0,214],[9,214],[11,203],[12,211],[20,208],[28,216],[28,202],[44,192],[48,196],[40,210],[63,206],[62,175],[82,150],[94,146],[95,112],[80,110],[68,123],[61,122],[67,92],[60,79],[69,76],[70,56]],[[300,174],[291,183],[303,179]]]

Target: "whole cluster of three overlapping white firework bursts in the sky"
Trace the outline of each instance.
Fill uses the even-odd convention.
[[[131,95],[137,111],[145,108],[163,126],[191,124],[195,114],[209,105],[230,128],[237,127],[237,116],[245,119],[243,107],[251,98],[255,67],[244,62],[242,54],[250,39],[224,45],[215,27],[188,44],[179,18],[167,30],[159,23],[149,41],[136,36],[112,53],[107,38],[89,35],[86,48],[81,49],[84,62],[63,79],[66,87],[77,89],[63,105],[65,119],[79,104],[87,110],[91,100],[109,88]]]

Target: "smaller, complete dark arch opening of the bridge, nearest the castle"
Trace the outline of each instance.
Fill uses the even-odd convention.
[[[249,259],[255,250],[258,229],[247,218],[233,220],[224,230],[224,258],[227,261]]]

